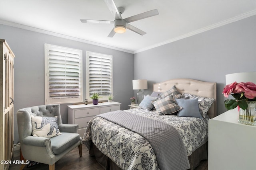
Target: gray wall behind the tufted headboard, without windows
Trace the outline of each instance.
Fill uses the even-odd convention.
[[[134,79],[152,84],[173,78],[217,83],[217,114],[226,111],[225,75],[256,71],[256,16],[134,55]]]

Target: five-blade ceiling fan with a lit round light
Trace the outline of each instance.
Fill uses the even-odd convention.
[[[131,16],[128,18],[123,19],[121,17],[121,14],[124,12],[124,8],[122,7],[116,7],[116,4],[114,3],[114,0],[104,0],[110,10],[110,12],[113,14],[115,20],[114,21],[105,21],[105,20],[80,20],[84,23],[114,23],[114,28],[108,35],[108,37],[113,37],[115,33],[124,33],[127,29],[130,29],[131,31],[134,31],[140,35],[146,34],[146,32],[142,31],[141,29],[138,29],[137,27],[134,27],[130,25],[130,22],[142,20],[144,18],[152,17],[158,15],[158,10],[151,10],[148,12],[144,12],[135,16]]]

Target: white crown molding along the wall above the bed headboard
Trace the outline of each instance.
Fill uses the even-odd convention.
[[[174,41],[178,41],[180,39],[184,39],[184,38],[187,38],[187,37],[191,37],[192,35],[196,35],[196,34],[199,34],[199,33],[202,33],[204,31],[208,31],[210,29],[214,29],[214,28],[217,28],[217,27],[221,27],[223,25],[226,25],[226,24],[229,24],[229,23],[232,23],[232,22],[235,22],[235,21],[239,21],[239,20],[242,20],[244,18],[248,18],[250,16],[254,16],[256,15],[256,10],[252,10],[250,12],[247,12],[247,13],[244,13],[242,15],[239,15],[239,16],[236,16],[236,17],[233,17],[233,18],[230,18],[228,20],[224,20],[224,21],[220,21],[218,23],[215,23],[215,24],[212,24],[212,25],[209,25],[207,27],[204,27],[204,28],[201,28],[201,29],[198,29],[196,31],[192,31],[190,33],[187,33],[187,34],[184,34],[184,35],[181,35],[179,37],[175,37],[175,38],[172,38],[172,39],[169,39],[167,41],[164,41],[164,42],[161,42],[161,43],[158,43],[158,44],[155,44],[155,45],[151,45],[151,46],[148,46],[148,47],[145,47],[145,48],[142,48],[142,49],[139,49],[139,50],[136,50],[134,51],[134,54],[136,53],[140,53],[142,51],[146,51],[146,50],[149,50],[149,49],[153,49],[155,47],[159,47],[161,45],[165,45],[165,44],[168,44],[168,43],[172,43]]]

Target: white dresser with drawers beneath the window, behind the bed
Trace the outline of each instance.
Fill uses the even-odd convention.
[[[99,102],[98,105],[93,105],[93,104],[69,105],[68,106],[68,123],[78,124],[79,125],[78,133],[80,137],[83,137],[86,127],[88,125],[88,122],[90,121],[90,119],[92,119],[92,117],[98,114],[120,110],[120,105],[121,103],[118,103],[118,102],[112,102],[112,103]]]

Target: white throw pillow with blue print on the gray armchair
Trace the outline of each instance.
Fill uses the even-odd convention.
[[[32,135],[36,137],[54,137],[60,135],[58,117],[41,117],[31,115]]]

